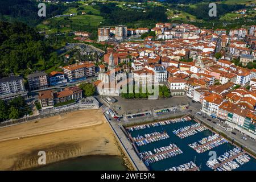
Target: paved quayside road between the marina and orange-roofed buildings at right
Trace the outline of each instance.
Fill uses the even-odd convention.
[[[232,134],[231,131],[226,131],[221,127],[221,126],[225,126],[225,127],[227,126],[225,122],[218,121],[218,119],[212,118],[207,114],[197,115],[196,112],[200,111],[202,105],[200,103],[193,103],[191,99],[188,99],[188,100],[189,100],[189,109],[192,110],[191,111],[192,115],[196,115],[196,117],[203,119],[203,121],[207,123],[207,125],[214,127],[214,129],[216,129],[217,131],[221,131],[222,133],[225,133],[229,138],[234,139],[236,142],[242,144],[242,146],[248,148],[249,150],[253,151],[256,154],[256,142],[254,140],[250,138],[247,138],[246,141],[243,140],[242,137],[244,137],[244,135],[239,133],[237,130],[232,131],[236,133],[236,135]],[[207,119],[210,119],[211,121],[208,121]],[[216,123],[213,123],[213,121]],[[217,123],[219,123],[221,126],[218,126]]]

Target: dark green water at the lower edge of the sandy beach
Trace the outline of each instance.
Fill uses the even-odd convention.
[[[126,171],[119,156],[84,156],[34,169],[36,171]]]

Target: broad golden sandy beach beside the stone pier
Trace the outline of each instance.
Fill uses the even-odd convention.
[[[100,110],[82,110],[0,129],[0,169],[38,167],[84,155],[121,155]]]

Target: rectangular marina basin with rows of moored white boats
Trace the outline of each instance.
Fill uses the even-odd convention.
[[[198,130],[196,133],[193,133],[191,135],[189,134],[187,136],[184,135],[185,137],[180,137],[181,135],[179,136],[179,134],[181,133],[184,134],[188,131],[192,132],[197,128],[200,128],[202,130]],[[130,140],[134,142],[133,146],[136,148],[135,151],[137,151],[139,158],[144,162],[144,164],[150,170],[163,170],[163,171],[218,170],[218,171],[221,171],[222,170],[221,168],[223,168],[224,170],[228,169],[228,167],[224,165],[227,162],[230,162],[230,165],[233,165],[232,170],[241,170],[241,171],[256,170],[256,159],[248,155],[241,148],[240,148],[240,150],[242,151],[241,155],[245,154],[248,156],[248,158],[250,158],[246,163],[241,160],[243,159],[245,161],[244,159],[245,156],[242,156],[242,157],[240,156],[240,158],[237,158],[237,159],[232,158],[232,160],[234,160],[234,162],[236,162],[239,165],[239,167],[237,168],[235,167],[236,164],[232,162],[231,159],[230,161],[226,161],[226,162],[224,161],[224,163],[218,160],[218,163],[217,162],[213,163],[214,166],[212,168],[208,167],[209,166],[208,160],[211,156],[209,155],[209,151],[215,151],[217,156],[221,156],[230,150],[234,150],[234,148],[237,148],[237,147],[234,146],[232,143],[229,143],[225,138],[221,137],[221,135],[213,133],[212,131],[207,129],[206,126],[201,125],[199,122],[191,120],[191,118],[189,117],[168,119],[166,121],[158,121],[158,122],[147,123],[144,125],[126,127],[126,131],[130,135]],[[180,131],[180,132],[177,132],[177,131]],[[166,134],[168,135],[168,138],[165,138],[162,140],[156,140],[155,142],[149,142],[149,143],[146,142],[146,144],[142,144],[142,145],[138,145],[136,143],[136,140],[134,140],[134,138],[136,139],[136,137],[138,136],[144,136],[145,134],[147,135],[152,133]],[[194,148],[189,146],[195,142],[197,143],[197,146],[195,146]],[[170,148],[166,148],[168,146],[170,147],[170,144],[172,145],[175,144],[176,148],[174,148],[174,150],[179,149],[180,154],[177,153],[176,155],[174,155],[171,152],[171,154],[173,155],[172,156],[169,152],[172,150],[172,148],[171,150]],[[203,147],[204,149],[200,150],[200,147]],[[160,148],[162,148],[162,150],[165,148],[166,150],[162,151]],[[200,152],[197,152],[195,149],[197,149],[197,151],[200,151]],[[234,157],[234,154],[233,154],[233,157]],[[237,160],[242,162],[243,164],[242,165],[239,164]],[[192,165],[191,162],[194,164],[194,166]],[[188,164],[191,164],[191,165],[189,166]],[[222,167],[223,165],[227,169]]]

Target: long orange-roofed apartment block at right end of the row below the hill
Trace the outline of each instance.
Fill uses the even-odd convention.
[[[69,81],[84,80],[86,77],[95,76],[94,63],[72,64],[63,67],[64,75]]]

